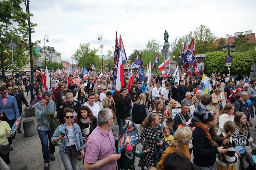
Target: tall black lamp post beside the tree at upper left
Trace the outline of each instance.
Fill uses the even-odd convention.
[[[33,95],[33,88],[34,88],[34,69],[33,69],[33,54],[32,54],[32,40],[31,40],[31,26],[30,26],[30,11],[29,11],[29,0],[23,0],[24,5],[26,6],[26,12],[29,14],[28,17],[28,30],[29,30],[29,54],[30,54],[30,72],[31,72],[31,96]],[[19,4],[13,4],[14,8],[20,8]]]

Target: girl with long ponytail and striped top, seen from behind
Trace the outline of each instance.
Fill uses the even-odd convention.
[[[216,158],[216,167],[218,170],[235,170],[235,162],[237,162],[237,157],[240,157],[238,151],[236,151],[236,144],[232,141],[232,135],[236,130],[236,125],[234,122],[228,120],[223,126],[224,132],[220,134],[221,137],[225,137],[229,142],[224,145],[224,149],[227,152],[224,154],[218,154]]]

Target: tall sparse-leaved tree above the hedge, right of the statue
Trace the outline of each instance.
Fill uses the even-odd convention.
[[[200,25],[196,28],[196,31],[194,31],[194,40],[197,54],[204,54],[209,51],[210,45],[213,43],[211,29],[205,25]]]

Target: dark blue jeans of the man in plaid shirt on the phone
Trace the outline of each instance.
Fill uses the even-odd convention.
[[[42,144],[43,158],[45,160],[44,163],[49,163],[50,154],[54,154],[55,152],[55,147],[53,146],[51,141],[51,137],[52,137],[51,130],[37,130],[37,131]],[[49,141],[49,145],[48,145],[48,141]]]

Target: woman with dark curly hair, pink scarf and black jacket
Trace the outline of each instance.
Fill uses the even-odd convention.
[[[93,112],[90,108],[87,106],[81,106],[76,116],[76,122],[81,129],[83,135],[83,143],[85,144],[87,138],[98,125],[97,118],[93,115]]]

